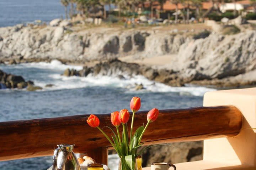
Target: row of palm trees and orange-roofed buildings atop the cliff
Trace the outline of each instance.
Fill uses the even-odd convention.
[[[218,4],[225,3],[225,2],[233,2],[236,7],[237,0],[60,0],[62,5],[65,6],[65,18],[68,18],[68,6],[70,5],[70,18],[74,16],[75,9],[78,11],[82,16],[86,16],[89,10],[94,10],[97,7],[101,7],[103,9],[103,18],[106,18],[106,5],[108,5],[111,11],[111,4],[116,5],[119,8],[118,16],[121,16],[121,11],[128,11],[128,12],[138,12],[139,6],[142,7],[142,10],[145,9],[144,3],[149,3],[149,8],[151,10],[151,17],[153,17],[153,8],[155,2],[158,2],[160,5],[160,13],[164,10],[164,4],[166,1],[170,1],[172,4],[176,6],[175,8],[175,21],[178,19],[178,4],[182,4],[186,8],[186,18],[187,20],[190,18],[190,9],[195,9],[196,18],[206,17],[209,13],[214,10],[219,11]],[[210,2],[212,7],[209,8],[204,13],[202,11],[202,2]],[[254,7],[256,12],[256,0],[250,0],[251,5]],[[237,15],[237,10],[234,9],[233,11],[234,16]],[[181,14],[183,18],[185,15]]]

